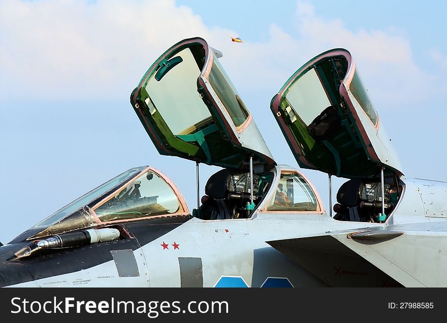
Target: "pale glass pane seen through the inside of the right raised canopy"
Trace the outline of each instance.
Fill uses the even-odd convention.
[[[289,88],[285,97],[306,126],[331,105],[314,68],[302,75]]]

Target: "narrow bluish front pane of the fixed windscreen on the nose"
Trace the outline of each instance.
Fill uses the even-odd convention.
[[[123,172],[122,174],[119,174],[118,176],[112,178],[111,180],[107,181],[103,185],[95,188],[94,190],[82,195],[81,197],[77,198],[70,204],[62,207],[55,213],[51,214],[48,218],[45,220],[39,222],[35,227],[48,227],[52,225],[55,222],[58,222],[62,218],[68,216],[68,214],[73,213],[74,211],[80,209],[84,205],[87,205],[91,201],[97,199],[107,191],[113,189],[115,186],[121,184],[122,182],[125,182],[126,180],[129,180],[132,176],[136,175],[141,169],[139,168],[133,168],[130,170],[127,170]]]

